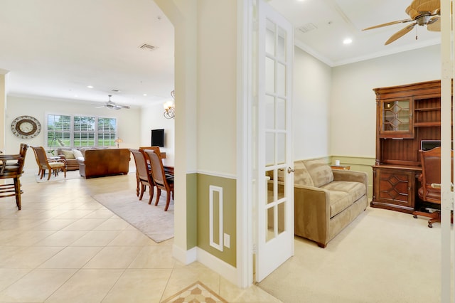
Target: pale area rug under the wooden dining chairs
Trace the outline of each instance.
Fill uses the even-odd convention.
[[[161,193],[158,206],[154,205],[155,198],[149,205],[148,193],[139,201],[135,190],[102,193],[93,198],[156,243],[173,238],[173,200],[164,211],[166,193]]]

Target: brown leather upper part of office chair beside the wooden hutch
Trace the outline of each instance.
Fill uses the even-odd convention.
[[[428,151],[419,151],[422,162],[422,187],[419,188],[419,197],[423,201],[441,203],[441,188],[434,188],[432,184],[441,183],[441,147]],[[451,171],[454,171],[454,151],[451,151]]]

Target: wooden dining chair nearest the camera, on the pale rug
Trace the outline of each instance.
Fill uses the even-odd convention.
[[[164,173],[163,161],[161,159],[161,153],[159,147],[152,149],[143,149],[144,154],[147,155],[150,161],[151,166],[151,176],[153,176],[154,184],[156,186],[156,201],[155,206],[158,205],[159,198],[161,196],[161,190],[166,191],[166,206],[164,211],[167,211],[169,208],[169,203],[171,202],[171,195],[173,200],[173,176],[166,175]]]

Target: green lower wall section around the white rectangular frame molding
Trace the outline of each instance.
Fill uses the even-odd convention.
[[[236,267],[237,265],[237,233],[236,233],[236,203],[237,203],[237,180],[223,178],[220,176],[210,176],[207,174],[197,174],[197,245],[198,248],[209,252],[220,260]],[[209,201],[210,186],[223,188],[223,234],[230,235],[230,248],[223,246],[223,251],[210,246],[210,217]],[[215,193],[214,206],[215,216],[213,216],[214,242],[219,243],[218,239],[218,194]],[[188,210],[188,206],[187,206]]]

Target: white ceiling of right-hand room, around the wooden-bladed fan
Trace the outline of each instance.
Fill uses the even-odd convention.
[[[385,46],[392,34],[411,23],[362,31],[363,28],[410,18],[405,12],[411,0],[270,0],[295,29],[295,43],[324,63],[336,66],[439,44],[439,32],[415,26],[397,41]],[[302,33],[298,28],[314,25]],[[416,31],[418,39],[416,40]],[[353,43],[343,45],[345,38]]]

